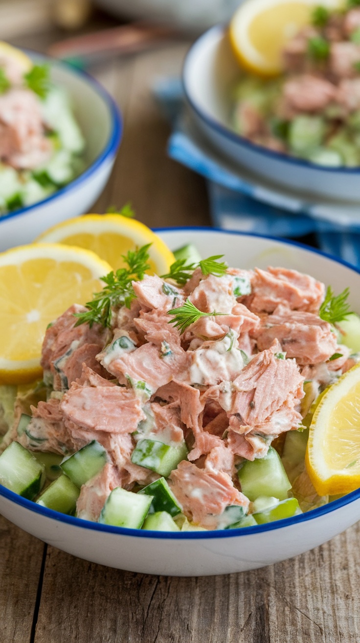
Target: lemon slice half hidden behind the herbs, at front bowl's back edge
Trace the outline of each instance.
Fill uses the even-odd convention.
[[[42,233],[37,242],[62,243],[92,250],[114,270],[125,265],[121,255],[149,243],[150,273],[164,275],[175,261],[164,241],[148,226],[118,214],[87,214],[68,219]]]

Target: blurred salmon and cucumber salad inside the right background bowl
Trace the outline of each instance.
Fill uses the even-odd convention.
[[[360,7],[316,7],[282,60],[281,77],[243,74],[234,97],[236,131],[318,165],[359,166]]]

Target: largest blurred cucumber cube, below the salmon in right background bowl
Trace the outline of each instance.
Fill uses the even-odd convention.
[[[321,145],[325,131],[325,120],[320,116],[296,116],[289,125],[289,146],[295,154],[307,154]]]

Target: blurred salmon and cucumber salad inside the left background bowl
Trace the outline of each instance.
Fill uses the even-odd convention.
[[[0,216],[37,203],[85,167],[85,141],[49,65],[0,42]]]

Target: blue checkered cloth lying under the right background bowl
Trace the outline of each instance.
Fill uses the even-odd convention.
[[[221,157],[194,125],[179,79],[164,78],[155,96],[173,125],[168,154],[207,179],[212,222],[218,228],[273,237],[314,234],[320,248],[360,266],[360,204],[313,203],[259,184]]]

